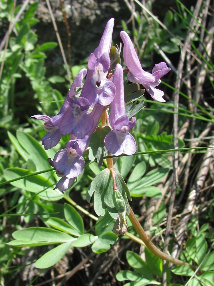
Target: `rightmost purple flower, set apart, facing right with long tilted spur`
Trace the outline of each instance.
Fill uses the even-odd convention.
[[[152,74],[145,72],[142,69],[140,60],[128,34],[121,31],[120,37],[124,43],[124,61],[129,69],[128,80],[130,82],[142,84],[154,100],[165,102],[163,99],[164,92],[155,88],[155,86],[158,86],[161,83],[160,78],[165,76],[165,74],[171,70],[170,67],[167,67],[166,63],[161,62],[154,66],[152,69]]]

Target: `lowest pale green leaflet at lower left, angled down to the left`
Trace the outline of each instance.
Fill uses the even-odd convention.
[[[72,241],[68,241],[61,245],[58,245],[54,249],[51,249],[36,261],[35,267],[41,269],[51,267],[52,265],[57,263],[60,259],[62,259],[62,257],[70,249],[71,245]]]

